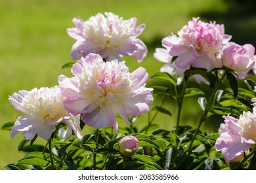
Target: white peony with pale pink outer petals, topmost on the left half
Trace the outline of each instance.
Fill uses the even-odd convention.
[[[106,61],[122,56],[133,56],[137,61],[147,54],[144,42],[137,37],[142,33],[145,24],[136,26],[137,18],[123,20],[112,12],[98,13],[89,20],[74,18],[75,28],[67,29],[68,35],[77,41],[72,46],[73,59],[80,59],[89,53],[100,54]]]

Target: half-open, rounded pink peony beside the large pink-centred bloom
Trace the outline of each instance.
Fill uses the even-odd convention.
[[[255,65],[255,48],[251,44],[240,46],[230,42],[223,48],[223,52],[217,57],[219,67],[227,67],[235,71],[240,78],[245,78],[247,73]]]

